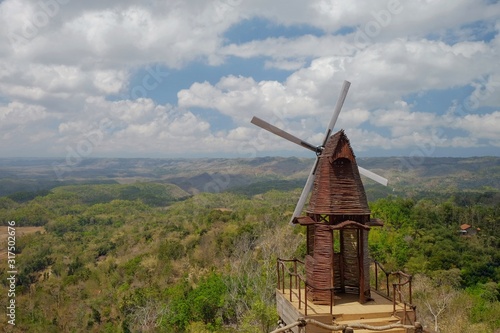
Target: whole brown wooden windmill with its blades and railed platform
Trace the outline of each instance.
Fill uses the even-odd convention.
[[[301,140],[262,119],[257,117],[252,119],[253,124],[316,153],[316,160],[291,219],[291,223],[306,228],[305,259],[278,258],[277,262],[276,305],[278,314],[285,324],[295,321],[298,316],[307,318],[308,309],[314,312],[310,318],[327,325],[332,322],[345,323],[346,320],[365,318],[370,318],[370,321],[373,319],[377,323],[389,323],[393,320],[401,320],[401,318],[406,320],[410,312],[415,314],[414,307],[407,311],[406,302],[404,307],[397,305],[397,284],[393,284],[392,303],[384,303],[388,299],[380,298],[380,294],[377,295],[377,288],[375,288],[375,294],[371,293],[370,270],[377,266],[372,266],[370,259],[368,233],[371,227],[383,226],[383,222],[371,217],[361,175],[385,186],[388,181],[358,166],[349,139],[343,130],[332,134],[349,86],[350,83],[344,81],[333,117],[328,124],[323,142],[319,146]],[[308,197],[310,199],[305,215],[301,215]],[[291,266],[285,269],[286,263],[290,263]],[[289,274],[288,292],[285,291],[285,270],[288,270]],[[299,273],[304,270],[305,279],[302,273]],[[375,276],[378,276],[376,269]],[[407,281],[401,280],[403,276]],[[387,297],[389,296],[388,281],[387,277]],[[375,279],[375,285],[378,285],[377,279]],[[411,276],[400,274],[398,285],[398,288],[404,285],[409,286],[411,303]],[[301,297],[301,290],[305,292],[304,298]],[[347,305],[353,299],[354,302],[366,303],[367,306],[355,305],[352,308],[354,311],[346,313],[344,318],[346,308],[342,306],[334,308],[334,305],[337,305],[336,302],[340,302],[338,305]],[[308,307],[308,300],[315,304],[314,309]],[[302,303],[305,303],[302,308],[304,310],[301,310]],[[328,310],[326,310],[327,306]],[[402,311],[396,310],[397,306]],[[387,332],[387,330],[383,331]],[[319,331],[306,328],[306,332]]]

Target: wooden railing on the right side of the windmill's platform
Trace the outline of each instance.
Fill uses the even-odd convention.
[[[403,324],[406,324],[407,321],[414,323],[416,321],[416,307],[412,304],[412,276],[402,271],[388,272],[379,262],[373,260],[373,263],[375,267],[375,290],[379,294],[383,294],[381,289],[381,285],[383,285],[385,287],[384,296],[392,299],[394,315],[397,316],[396,304],[401,303],[403,304],[403,318],[400,319],[403,320]],[[379,281],[379,275],[385,275],[384,281]],[[392,289],[389,288],[390,284],[392,284]],[[411,311],[409,311],[410,309]],[[409,316],[410,313],[413,315],[412,318]]]

